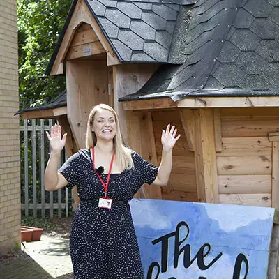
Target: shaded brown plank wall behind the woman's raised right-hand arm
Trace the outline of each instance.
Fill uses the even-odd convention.
[[[162,158],[161,135],[168,123],[175,125],[181,138],[174,146],[172,174],[167,186],[162,187],[162,199],[197,202],[195,153],[190,151],[179,110],[152,111],[158,164]]]

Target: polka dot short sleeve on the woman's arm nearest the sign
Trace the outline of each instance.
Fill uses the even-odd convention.
[[[132,156],[140,184],[143,185],[144,183],[153,183],[158,174],[158,167],[144,160],[144,158],[136,152],[133,152]]]

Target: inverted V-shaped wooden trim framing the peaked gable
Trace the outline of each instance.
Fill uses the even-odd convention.
[[[98,37],[98,40],[100,40],[100,43],[103,45],[105,52],[107,52],[107,64],[116,65],[120,63],[116,57],[116,54],[113,52],[110,43],[107,41],[107,38],[105,38],[105,34],[100,29],[98,23],[96,22],[95,18],[91,14],[89,7],[86,5],[84,0],[79,0],[77,1],[72,17],[70,18],[68,28],[63,37],[63,41],[59,48],[59,52],[56,56],[54,64],[52,66],[50,75],[61,74],[60,65],[61,63],[63,63],[64,59],[66,58],[66,54],[68,52],[70,44],[72,43],[72,40],[75,36],[75,31],[80,27],[80,25],[84,23],[89,24],[91,26],[94,33]]]

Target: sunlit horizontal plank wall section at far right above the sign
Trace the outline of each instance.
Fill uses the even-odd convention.
[[[269,133],[279,131],[278,108],[220,109],[222,148],[216,152],[220,203],[273,206]]]

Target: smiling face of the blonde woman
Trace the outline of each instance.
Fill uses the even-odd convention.
[[[110,141],[116,135],[116,122],[114,114],[108,110],[98,109],[94,116],[92,132],[97,140]]]

